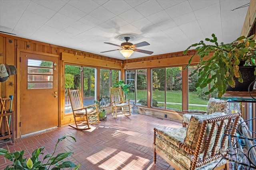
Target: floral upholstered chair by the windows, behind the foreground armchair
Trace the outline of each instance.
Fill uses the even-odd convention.
[[[188,125],[192,115],[209,115],[216,112],[229,113],[228,103],[226,100],[219,100],[215,98],[210,98],[207,104],[206,111],[202,110],[183,110],[182,123],[183,127]]]

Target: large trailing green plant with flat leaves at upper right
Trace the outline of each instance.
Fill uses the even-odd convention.
[[[244,81],[241,73],[241,68],[244,66],[252,66],[252,73],[256,75],[256,43],[253,37],[254,35],[250,37],[242,36],[232,43],[224,44],[222,42],[219,44],[217,37],[212,34],[212,39],[206,38],[205,41],[213,44],[206,45],[204,41],[200,41],[190,45],[183,53],[186,54],[191,47],[196,47],[196,53],[190,58],[186,67],[190,65],[195,55],[200,57],[196,70],[192,72],[192,74],[198,74],[199,76],[195,86],[204,88],[213,83],[213,86],[205,94],[210,94],[214,89],[217,89],[218,98],[221,98],[228,85],[234,88],[238,82],[242,83]],[[255,80],[255,76],[253,80]]]

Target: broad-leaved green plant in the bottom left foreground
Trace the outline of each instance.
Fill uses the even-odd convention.
[[[76,139],[72,136],[64,136],[59,138],[55,145],[53,154],[46,154],[43,161],[39,160],[39,155],[44,154],[44,147],[34,150],[32,152],[32,157],[28,158],[28,160],[23,158],[24,150],[8,153],[8,150],[0,148],[0,155],[4,155],[6,159],[12,161],[13,163],[11,167],[8,165],[6,168],[4,168],[4,170],[50,170],[50,168],[51,170],[60,170],[62,168],[74,168],[74,170],[77,170],[80,165],[75,165],[71,161],[63,161],[63,159],[70,156],[72,152],[62,152],[56,156],[53,156],[58,143],[66,137],[71,137],[74,139],[74,141],[76,141]]]

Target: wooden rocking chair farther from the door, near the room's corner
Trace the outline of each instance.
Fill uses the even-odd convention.
[[[124,93],[121,87],[110,87],[110,105],[112,107],[112,115],[117,118],[117,115],[131,115],[130,100],[124,100]]]

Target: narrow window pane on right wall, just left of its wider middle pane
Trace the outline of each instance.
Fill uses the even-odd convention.
[[[161,107],[165,109],[165,68],[152,69],[151,79],[151,107]]]

